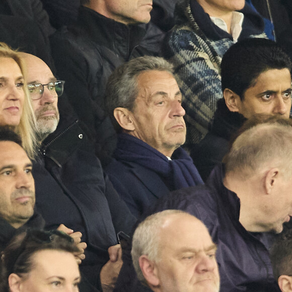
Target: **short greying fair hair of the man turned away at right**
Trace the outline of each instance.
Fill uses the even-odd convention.
[[[240,134],[224,158],[226,173],[246,179],[270,162],[285,178],[292,175],[292,128],[274,120],[255,125]]]

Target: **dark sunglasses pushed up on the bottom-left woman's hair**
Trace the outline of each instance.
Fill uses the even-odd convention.
[[[9,263],[9,266],[8,266],[9,273],[11,274],[15,272],[15,267],[19,261],[20,256],[26,250],[28,242],[34,241],[40,244],[49,243],[54,240],[55,236],[62,237],[69,243],[74,243],[74,239],[62,231],[58,231],[58,230],[43,231],[43,230],[28,229],[26,231],[26,235],[24,239],[22,240],[20,247],[15,251],[13,258],[11,259]],[[2,253],[2,256],[5,257],[5,253]]]

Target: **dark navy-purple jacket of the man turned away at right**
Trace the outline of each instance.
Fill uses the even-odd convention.
[[[217,244],[221,291],[280,291],[268,252],[274,235],[245,230],[239,222],[240,200],[223,178],[224,170],[217,166],[205,185],[172,192],[155,211],[184,210],[206,225]]]

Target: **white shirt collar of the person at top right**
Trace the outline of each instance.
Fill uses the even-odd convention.
[[[242,31],[243,18],[244,18],[244,15],[241,12],[238,12],[238,11],[232,12],[231,35],[234,39],[234,42],[237,41]],[[218,18],[218,17],[212,17],[212,16],[210,16],[210,19],[217,27],[228,32],[227,25],[223,19]]]

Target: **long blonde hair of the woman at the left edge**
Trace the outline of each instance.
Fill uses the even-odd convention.
[[[20,57],[18,51],[13,50],[6,43],[0,42],[0,58],[12,58],[16,61],[20,67],[22,76],[24,78],[24,96],[25,101],[23,105],[23,111],[20,118],[20,123],[16,127],[16,132],[21,136],[22,144],[24,150],[27,152],[28,156],[33,159],[35,157],[36,151],[36,131],[35,131],[35,116],[31,104],[31,99],[26,86],[26,69],[25,62]]]

